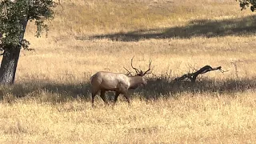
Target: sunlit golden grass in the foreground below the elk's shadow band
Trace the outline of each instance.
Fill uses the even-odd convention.
[[[132,106],[88,102],[58,103],[18,100],[2,103],[1,142],[23,143],[253,143],[254,94],[179,95]]]

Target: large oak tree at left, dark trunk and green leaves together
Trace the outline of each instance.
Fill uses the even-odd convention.
[[[58,2],[53,0],[1,0],[0,4],[0,83],[13,84],[20,50],[29,49],[24,39],[27,22],[37,26],[35,36],[48,30],[47,19],[54,18],[54,7]],[[47,34],[47,33],[46,33]]]

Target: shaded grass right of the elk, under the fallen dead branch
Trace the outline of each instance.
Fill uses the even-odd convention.
[[[167,78],[150,78],[143,89],[145,99],[158,99],[164,97],[177,97],[182,93],[213,95],[234,94],[246,90],[256,90],[255,78],[225,79],[223,81],[204,78],[197,82],[170,81]]]

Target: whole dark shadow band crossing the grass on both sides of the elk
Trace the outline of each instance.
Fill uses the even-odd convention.
[[[178,97],[182,93],[201,94],[234,94],[246,90],[255,90],[255,78],[226,79],[217,81],[214,79],[202,79],[195,83],[174,82],[170,78],[158,77],[148,79],[145,87],[136,90],[130,90],[132,97],[138,97],[146,100],[155,100],[158,98]],[[40,102],[68,102],[78,98],[90,102],[90,84],[89,83],[69,83],[58,84],[54,82],[22,82],[14,86],[0,86],[0,98],[3,100],[12,96],[17,98],[36,98]],[[114,94],[109,94],[110,97]],[[98,97],[99,98],[99,97]],[[110,98],[111,99],[111,98]],[[8,101],[8,99],[7,99]],[[11,99],[10,99],[11,101]]]

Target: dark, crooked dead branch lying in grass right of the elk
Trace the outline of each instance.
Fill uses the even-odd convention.
[[[181,77],[175,78],[174,81],[182,81],[184,79],[190,79],[190,82],[195,82],[199,74],[205,74],[212,70],[220,70],[222,73],[225,73],[226,71],[228,71],[228,70],[226,71],[222,70],[222,66],[218,66],[214,68],[212,68],[211,66],[203,66],[200,70],[197,70],[194,73],[184,74]]]

